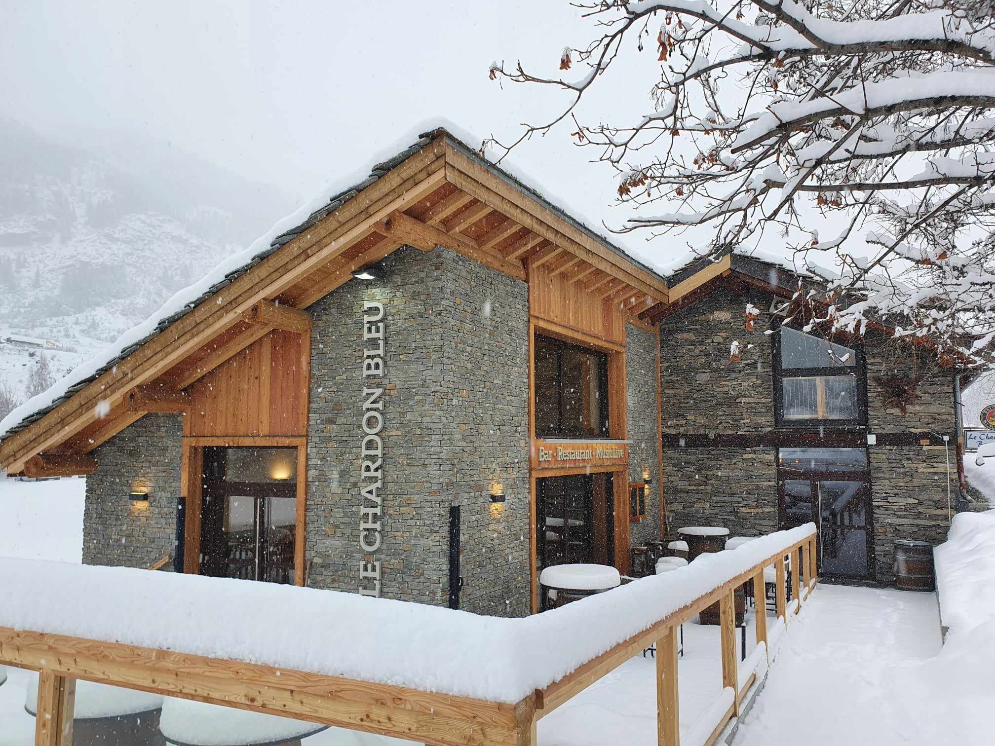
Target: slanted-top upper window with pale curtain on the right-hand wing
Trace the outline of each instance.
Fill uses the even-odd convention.
[[[863,425],[867,420],[864,358],[844,347],[782,326],[774,335],[778,425]]]

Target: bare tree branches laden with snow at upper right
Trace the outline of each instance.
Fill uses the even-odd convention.
[[[642,208],[616,230],[707,226],[697,251],[712,258],[777,242],[825,280],[827,327],[863,333],[890,317],[899,335],[992,364],[993,0],[574,5],[592,31],[556,59],[569,73],[491,70],[559,89],[564,102],[485,151],[500,160],[569,124],[576,144],[618,170],[619,200]],[[634,75],[633,65],[659,70],[654,113],[611,121],[603,106],[587,110],[610,70]]]

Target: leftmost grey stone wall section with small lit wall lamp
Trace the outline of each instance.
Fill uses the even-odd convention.
[[[98,467],[87,476],[83,515],[84,563],[149,567],[173,556],[182,431],[178,415],[145,415],[95,449]],[[128,499],[132,489],[148,493],[147,506]]]

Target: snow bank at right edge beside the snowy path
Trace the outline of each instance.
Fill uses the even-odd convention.
[[[995,624],[995,511],[957,513],[933,556],[943,627],[965,635]]]

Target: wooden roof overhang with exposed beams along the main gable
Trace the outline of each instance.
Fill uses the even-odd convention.
[[[309,328],[304,309],[401,246],[443,246],[518,280],[527,280],[530,268],[545,266],[619,303],[634,322],[645,322],[648,311],[708,279],[669,287],[445,130],[423,140],[349,199],[292,232],[258,264],[9,435],[0,443],[0,467],[29,476],[92,471],[96,462],[89,454],[101,443],[147,413],[185,411],[186,387],[273,329]]]

